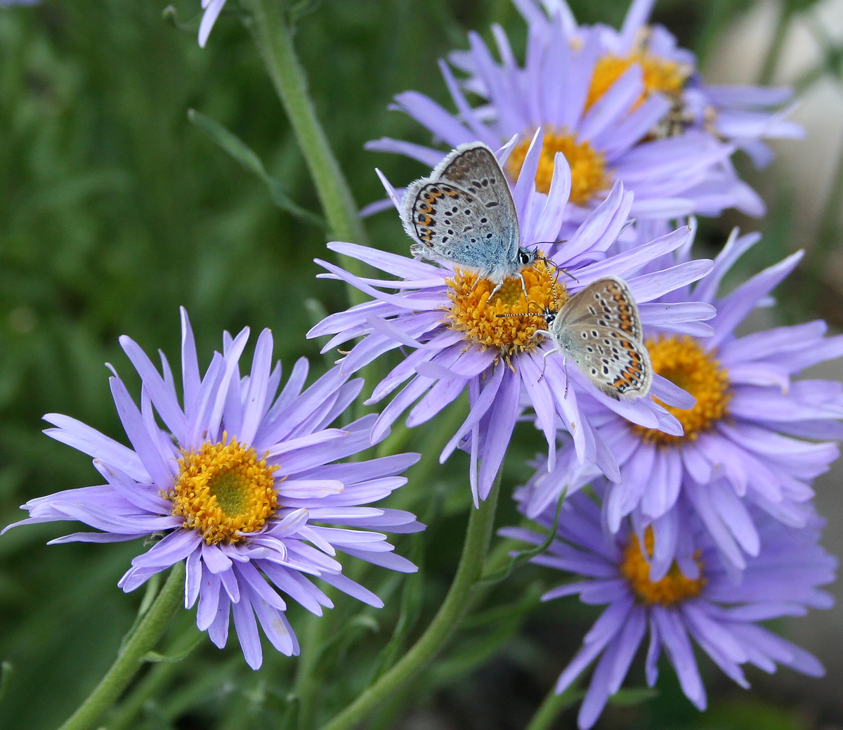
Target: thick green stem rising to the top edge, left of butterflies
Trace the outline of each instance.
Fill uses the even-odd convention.
[[[255,43],[293,126],[325,213],[330,237],[368,245],[352,192],[310,103],[307,81],[298,64],[293,38],[284,18],[283,3],[278,0],[248,0],[248,4],[252,12],[250,27]],[[348,271],[357,275],[361,273],[359,261],[341,258],[342,266]],[[362,294],[357,289],[353,292],[352,301],[362,301]]]

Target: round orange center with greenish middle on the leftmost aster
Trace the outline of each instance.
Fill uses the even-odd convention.
[[[217,443],[205,442],[179,459],[173,491],[173,514],[185,518],[185,527],[201,533],[207,545],[234,543],[243,533],[259,530],[278,507],[272,473],[255,449],[227,434]]]

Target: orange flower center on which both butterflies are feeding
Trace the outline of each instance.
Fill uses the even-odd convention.
[[[541,255],[541,254],[540,254]],[[469,271],[456,271],[448,280],[451,307],[446,315],[448,325],[465,333],[466,339],[484,347],[497,347],[502,355],[532,350],[540,343],[536,330],[545,329],[545,309],[559,309],[567,300],[565,284],[556,282],[544,260],[521,271],[529,299],[524,298],[521,279],[513,276],[490,297],[495,284],[488,279],[477,281]],[[529,313],[529,314],[528,314]],[[498,314],[520,314],[518,317],[498,317]]]

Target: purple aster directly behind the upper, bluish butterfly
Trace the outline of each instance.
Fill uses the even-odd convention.
[[[506,168],[513,181],[534,132],[543,130],[536,188],[550,190],[554,161],[562,153],[572,169],[571,215],[577,221],[604,200],[616,180],[634,193],[631,214],[638,218],[714,215],[726,207],[763,212],[758,196],[729,167],[732,145],[697,129],[681,137],[651,138],[671,101],[664,94],[647,94],[646,75],[639,64],[613,78],[599,98],[588,99],[590,79],[605,52],[599,29],[582,28],[573,36],[561,10],[548,19],[529,3],[520,6],[531,21],[523,67],[515,61],[501,28],[492,28],[500,62],[481,37],[471,33],[470,50],[452,56],[454,65],[470,73],[468,79],[460,83],[448,63],[440,63],[456,113],[415,91],[398,94],[395,109],[411,115],[449,147],[481,140],[494,149],[519,135],[521,142]],[[541,22],[533,22],[532,16]],[[481,95],[486,105],[472,108],[464,88]],[[368,148],[405,154],[430,165],[442,156],[436,149],[389,138],[369,142]]]

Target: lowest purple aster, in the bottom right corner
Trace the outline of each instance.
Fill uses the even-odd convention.
[[[554,512],[550,507],[539,516],[545,529],[552,526]],[[652,553],[651,530],[636,534],[625,520],[620,529],[609,531],[599,503],[585,491],[566,498],[558,539],[533,561],[573,574],[572,582],[545,593],[544,600],[579,594],[585,604],[608,604],[556,682],[556,692],[566,690],[597,660],[580,707],[579,727],[591,727],[609,697],[620,690],[647,633],[647,684],[656,684],[663,650],[685,695],[700,710],[706,709],[706,690],[692,641],[744,688],[749,682],[743,664],[769,673],[778,663],[810,676],[824,674],[812,654],[760,625],[834,603],[819,589],[834,580],[837,565],[819,546],[822,522],[812,515],[806,527],[795,529],[764,514],[755,517],[760,551],[747,561],[738,582],[723,569],[711,534],[693,516],[682,524],[690,536],[685,566],[674,563],[657,579],[647,555]],[[509,528],[502,534],[534,544],[543,541],[541,534],[528,529]]]

